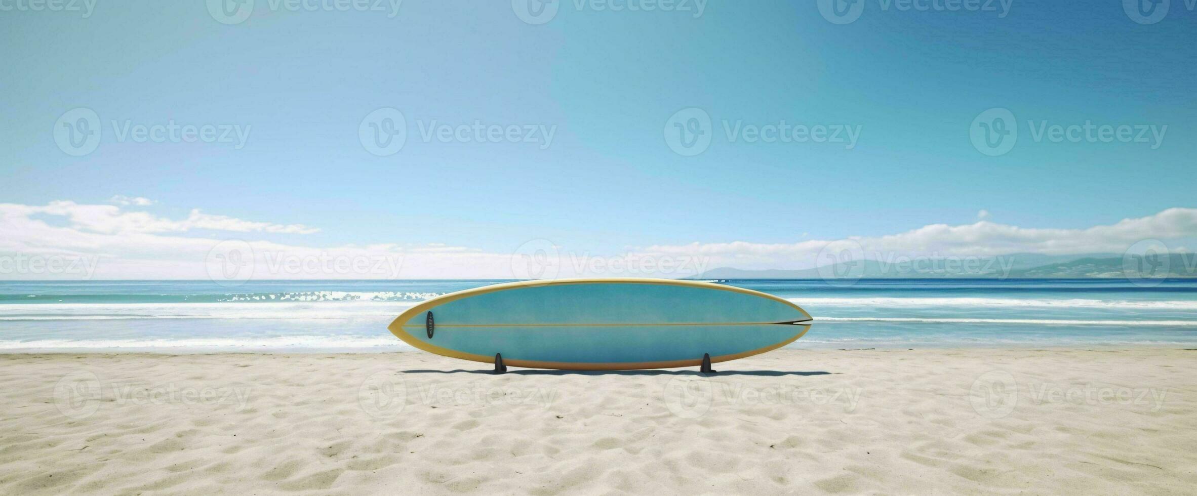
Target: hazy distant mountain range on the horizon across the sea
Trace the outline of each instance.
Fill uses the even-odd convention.
[[[1131,263],[1138,264],[1137,261]],[[1167,269],[1165,269],[1167,265]],[[1175,253],[1165,261],[1144,261],[1138,277],[1197,277],[1197,255]],[[863,261],[820,269],[743,270],[717,268],[694,278],[1125,278],[1123,257],[1113,253],[1049,256],[1019,253],[1003,257]]]

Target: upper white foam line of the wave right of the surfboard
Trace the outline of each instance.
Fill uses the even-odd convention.
[[[1134,301],[1019,298],[790,298],[789,300],[804,307],[1040,307],[1197,311],[1197,300]]]

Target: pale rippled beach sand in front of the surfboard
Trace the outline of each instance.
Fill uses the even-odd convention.
[[[442,373],[485,368],[423,353],[0,355],[0,494],[1197,488],[1197,351],[782,350],[710,379]],[[399,373],[412,369],[436,372]]]

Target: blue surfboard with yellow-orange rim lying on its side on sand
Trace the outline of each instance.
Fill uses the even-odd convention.
[[[437,355],[515,367],[630,371],[691,367],[784,347],[810,314],[767,293],[699,281],[522,281],[445,294],[388,327]]]

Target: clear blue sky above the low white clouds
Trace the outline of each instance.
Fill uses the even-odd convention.
[[[288,11],[256,0],[236,24],[202,1],[0,12],[0,203],[126,195],[153,203],[122,213],[178,220],[199,209],[318,228],[251,231],[261,241],[494,253],[531,239],[613,253],[978,220],[1087,229],[1197,207],[1197,12],[1183,0],[1153,24],[1117,1],[1017,0],[954,12],[868,0],[846,24],[814,1],[644,12],[571,0],[530,24],[521,1],[403,0],[391,17],[385,1],[342,12],[324,8],[332,1]],[[101,123],[81,157],[54,134],[77,108]],[[403,116],[407,136],[379,157],[359,127],[383,108]],[[692,108],[710,118],[711,141],[686,157],[667,134]],[[1009,110],[1019,136],[990,157],[970,133],[995,108]],[[171,121],[241,129],[245,140],[121,133]],[[1146,130],[1147,142],[1035,137],[1037,125],[1087,121]],[[475,122],[517,127],[519,139],[425,137]],[[733,142],[737,122],[858,136]],[[539,141],[524,142],[525,130]]]

